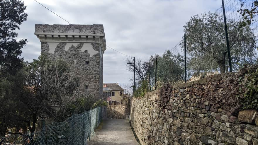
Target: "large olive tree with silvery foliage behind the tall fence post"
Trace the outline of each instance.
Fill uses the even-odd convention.
[[[249,26],[239,28],[239,22],[227,20],[233,71],[243,64],[256,61],[256,37]],[[229,67],[223,17],[217,13],[191,16],[184,26],[188,68],[193,71],[220,71]]]

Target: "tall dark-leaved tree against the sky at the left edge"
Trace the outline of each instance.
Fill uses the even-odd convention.
[[[21,48],[27,40],[16,41],[19,25],[26,21],[28,14],[21,0],[1,0],[0,2],[0,75],[15,74],[22,67]]]

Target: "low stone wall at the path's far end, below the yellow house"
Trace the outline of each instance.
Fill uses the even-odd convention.
[[[126,119],[126,115],[129,115],[130,106],[128,105],[110,105],[107,106],[107,117],[113,119]]]

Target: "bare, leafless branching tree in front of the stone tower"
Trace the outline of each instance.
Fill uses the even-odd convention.
[[[78,95],[80,80],[72,76],[66,62],[41,57],[30,63],[28,68],[27,88],[34,92],[30,98],[35,100],[33,104],[36,108],[57,122],[64,121],[78,110],[82,104]]]

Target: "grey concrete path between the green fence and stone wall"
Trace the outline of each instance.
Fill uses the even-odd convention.
[[[128,120],[103,119],[88,145],[139,145]]]

